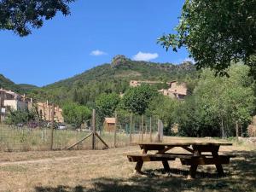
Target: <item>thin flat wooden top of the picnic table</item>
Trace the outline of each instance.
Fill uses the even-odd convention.
[[[169,142],[169,143],[133,143],[137,145],[158,145],[158,146],[190,146],[190,145],[224,145],[229,146],[232,143],[221,143],[221,142]]]

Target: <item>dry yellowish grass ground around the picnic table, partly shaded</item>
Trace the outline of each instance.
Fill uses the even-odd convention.
[[[138,146],[95,151],[3,152],[0,191],[256,191],[253,145],[221,147],[221,153],[237,155],[230,165],[224,166],[226,176],[218,177],[214,166],[201,166],[192,180],[186,178],[189,167],[182,166],[179,160],[170,162],[172,172],[163,172],[160,162],[148,162],[143,166],[146,176],[134,175],[135,164],[128,162],[125,154],[136,152],[140,152]]]

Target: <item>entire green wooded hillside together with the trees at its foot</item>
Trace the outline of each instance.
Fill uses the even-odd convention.
[[[168,135],[246,136],[247,125],[255,113],[254,81],[248,76],[249,68],[241,63],[232,64],[227,73],[229,77],[216,77],[210,69],[196,71],[191,62],[160,64],[131,61],[117,55],[110,64],[42,88],[12,85],[38,101],[49,100],[61,105],[66,122],[78,127],[90,118],[91,109],[96,108],[100,124],[104,117],[113,117],[115,112],[132,113],[158,117]],[[130,80],[164,83],[131,88]],[[187,84],[189,96],[177,100],[161,95],[158,90],[172,80]],[[10,82],[1,80],[0,84],[5,88]],[[172,131],[174,125],[178,125],[178,133]]]

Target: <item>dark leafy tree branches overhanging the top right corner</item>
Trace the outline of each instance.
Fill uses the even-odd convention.
[[[159,38],[168,50],[187,47],[197,68],[227,74],[231,61],[243,61],[256,78],[256,1],[186,0],[176,34]]]

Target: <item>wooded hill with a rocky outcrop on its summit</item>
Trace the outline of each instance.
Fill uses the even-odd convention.
[[[111,63],[34,90],[32,96],[40,100],[49,99],[58,104],[73,101],[93,105],[96,96],[103,92],[125,92],[130,80],[188,82],[195,79],[197,73],[191,62],[173,65],[172,63],[132,61],[124,55],[117,55]]]

